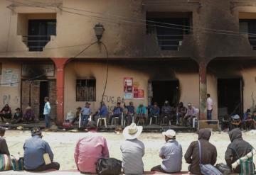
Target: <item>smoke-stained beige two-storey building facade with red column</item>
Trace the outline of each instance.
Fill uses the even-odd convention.
[[[255,11],[242,0],[0,1],[0,107],[40,116],[49,96],[60,124],[85,101],[169,100],[205,119],[209,93],[213,118],[242,113],[255,107]]]

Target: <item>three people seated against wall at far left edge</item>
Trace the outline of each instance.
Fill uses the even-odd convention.
[[[6,104],[0,111],[0,118],[2,123],[6,123],[8,120],[13,124],[22,122],[28,123],[35,120],[35,115],[31,106],[26,107],[24,113],[21,112],[21,108],[16,108],[14,115],[12,115],[11,107]]]

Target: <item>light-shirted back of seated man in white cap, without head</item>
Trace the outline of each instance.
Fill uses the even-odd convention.
[[[159,155],[164,156],[161,168],[172,173],[181,171],[182,147],[176,140],[169,140],[161,147]]]

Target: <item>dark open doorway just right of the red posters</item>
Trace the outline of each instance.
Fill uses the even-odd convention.
[[[178,80],[151,81],[151,91],[151,103],[157,102],[161,108],[164,101],[169,101],[171,106],[177,106],[179,101]]]

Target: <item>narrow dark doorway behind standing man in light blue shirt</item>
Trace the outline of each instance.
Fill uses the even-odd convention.
[[[39,90],[39,103],[40,103],[40,107],[39,110],[43,111],[44,108],[44,98],[46,96],[49,96],[49,83],[48,81],[40,81],[40,90]],[[43,112],[40,113],[39,118],[44,118],[43,116]]]

